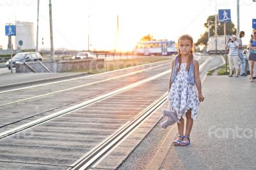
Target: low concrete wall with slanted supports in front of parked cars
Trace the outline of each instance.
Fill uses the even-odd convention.
[[[80,59],[74,61],[43,61],[42,62],[52,73],[67,72],[69,70],[101,68],[104,66],[104,59]],[[28,62],[36,72],[47,72],[37,61]],[[16,65],[16,73],[32,72],[26,65]]]

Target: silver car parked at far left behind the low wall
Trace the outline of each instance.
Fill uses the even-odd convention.
[[[24,62],[28,62],[28,61],[43,61],[43,58],[41,56],[41,54],[39,52],[20,52],[18,54],[16,54],[15,56],[13,56],[12,58],[12,66],[15,67],[16,63],[19,64],[23,64]],[[11,69],[11,59],[9,59],[8,61],[6,61],[5,65]]]

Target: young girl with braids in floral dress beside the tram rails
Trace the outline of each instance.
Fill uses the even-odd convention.
[[[179,137],[174,145],[186,146],[190,143],[189,134],[193,120],[198,117],[199,102],[204,101],[199,77],[199,64],[193,56],[193,38],[182,35],[178,40],[179,55],[172,62],[172,73],[169,81],[168,109],[176,112],[180,123],[177,123]],[[186,131],[184,134],[184,117]]]

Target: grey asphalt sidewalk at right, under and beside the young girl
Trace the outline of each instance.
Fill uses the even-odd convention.
[[[205,101],[191,144],[169,144],[164,160],[150,169],[256,169],[256,82],[248,76],[208,76],[202,91]],[[176,133],[175,125],[170,143]],[[159,157],[161,151],[154,160]]]

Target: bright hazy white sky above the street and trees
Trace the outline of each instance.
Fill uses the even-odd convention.
[[[122,50],[131,50],[141,37],[152,34],[156,39],[175,40],[182,34],[196,42],[204,33],[204,22],[219,9],[231,9],[237,25],[237,0],[52,0],[54,48],[113,50],[116,40],[116,15],[119,16]],[[256,3],[240,0],[240,30],[247,43],[256,19]],[[6,23],[15,20],[35,23],[36,0],[0,0],[0,45],[7,48]],[[90,16],[88,19],[88,15]],[[50,47],[49,1],[40,1],[39,48]],[[89,23],[89,24],[88,24]],[[42,45],[44,38],[44,45]]]

